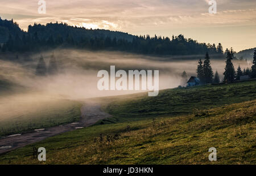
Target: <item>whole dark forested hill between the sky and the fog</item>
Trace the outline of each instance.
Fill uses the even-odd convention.
[[[170,32],[171,33],[171,32]],[[133,36],[104,29],[73,27],[66,23],[34,24],[28,32],[13,20],[0,18],[1,52],[40,51],[54,48],[119,50],[138,54],[198,55],[216,54],[223,58],[221,44],[199,43],[183,35],[169,37]]]

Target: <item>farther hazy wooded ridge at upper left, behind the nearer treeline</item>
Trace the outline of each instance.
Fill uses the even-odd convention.
[[[28,26],[27,34],[35,35],[38,33],[38,37],[40,40],[43,38],[49,38],[50,36],[68,36],[72,35],[74,40],[81,40],[84,37],[105,37],[109,36],[111,38],[116,37],[125,38],[128,41],[133,40],[133,35],[129,35],[128,33],[118,32],[118,31],[109,31],[105,29],[85,29],[79,27],[73,27],[63,23],[48,23],[46,25],[42,24],[34,24],[33,26]],[[6,42],[8,40],[9,35],[15,37],[18,34],[19,37],[26,34],[26,32],[22,31],[19,28],[19,25],[12,20],[3,20],[0,17],[0,43]]]

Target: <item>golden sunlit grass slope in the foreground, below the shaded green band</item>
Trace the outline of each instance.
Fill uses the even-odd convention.
[[[32,159],[32,145],[2,154],[0,163],[256,164],[255,120],[254,100],[174,118],[92,126],[36,143],[47,150],[44,163]],[[217,149],[215,162],[208,160],[210,147]]]

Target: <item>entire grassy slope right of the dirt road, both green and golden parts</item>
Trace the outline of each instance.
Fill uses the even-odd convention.
[[[1,154],[0,164],[256,164],[255,85],[106,97],[112,119],[33,144],[46,148],[46,162],[32,159],[27,145]],[[208,160],[210,147],[217,149],[215,162]]]

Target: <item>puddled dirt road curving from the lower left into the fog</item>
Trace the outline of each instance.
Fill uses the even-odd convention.
[[[100,105],[85,103],[81,108],[81,120],[77,123],[43,128],[24,134],[16,134],[0,138],[0,154],[12,151],[16,148],[24,147],[25,145],[44,140],[50,136],[55,136],[63,132],[88,127],[97,121],[108,117],[111,117],[111,115],[102,111],[100,109]]]

